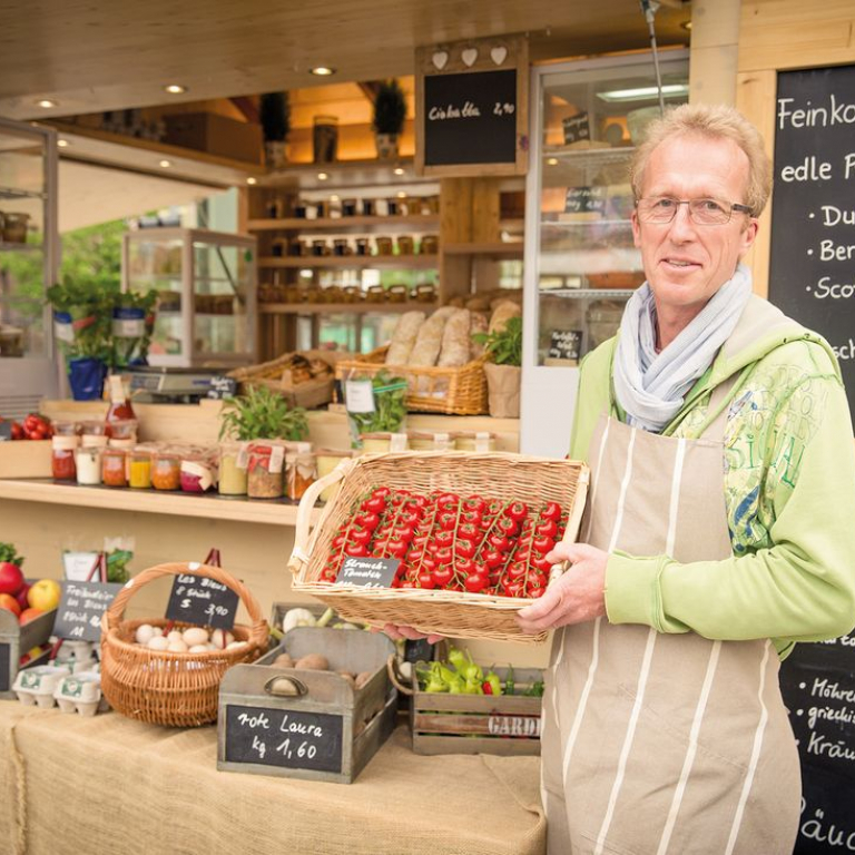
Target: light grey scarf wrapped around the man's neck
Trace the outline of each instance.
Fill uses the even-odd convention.
[[[627,424],[659,433],[736,328],[751,295],[751,273],[740,264],[700,314],[656,352],[656,304],[645,283],[627,302],[615,353],[615,394]]]

